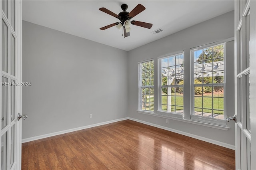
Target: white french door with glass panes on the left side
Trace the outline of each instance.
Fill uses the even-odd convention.
[[[22,1],[1,0],[1,170],[21,169]]]

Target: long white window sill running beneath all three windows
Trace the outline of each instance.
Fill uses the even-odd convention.
[[[185,123],[191,123],[191,124],[194,124],[194,125],[200,125],[200,126],[204,126],[204,127],[216,128],[216,129],[220,129],[220,130],[228,130],[230,128],[230,127],[227,127],[227,126],[220,126],[220,125],[214,125],[214,124],[209,124],[209,123],[204,123],[204,122],[187,120],[187,119],[178,118],[178,117],[160,115],[160,114],[156,114],[154,112],[149,112],[149,111],[138,111],[138,113],[151,115],[151,116],[156,116],[156,117],[162,117],[162,118],[165,118],[165,119],[171,119],[171,120],[175,120],[175,121],[181,121],[181,122],[185,122]]]

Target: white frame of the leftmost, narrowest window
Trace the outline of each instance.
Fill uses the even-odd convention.
[[[147,62],[153,62],[153,64],[154,64],[154,59],[148,59],[148,60],[138,62],[138,95],[139,95],[138,96],[138,111],[146,112],[146,113],[154,113],[154,109],[155,109],[154,103],[153,103],[153,106],[154,106],[153,111],[142,110],[142,88],[153,88],[154,89],[154,74],[153,74],[153,85],[142,86],[142,75],[140,74],[140,64],[147,63]],[[153,71],[154,71],[154,69],[153,69]]]

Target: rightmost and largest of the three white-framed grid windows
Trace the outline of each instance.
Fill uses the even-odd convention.
[[[192,55],[192,120],[224,122],[224,44],[195,49]]]

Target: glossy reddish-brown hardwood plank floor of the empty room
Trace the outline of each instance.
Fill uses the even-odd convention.
[[[22,170],[235,169],[235,151],[126,120],[22,144]]]

